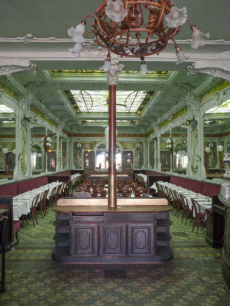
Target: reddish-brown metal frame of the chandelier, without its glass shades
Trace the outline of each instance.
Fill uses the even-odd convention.
[[[95,11],[95,15],[88,14],[82,24],[86,24],[88,17],[95,18],[92,23],[93,31],[85,33],[84,38],[93,33],[95,42],[109,51],[123,57],[139,57],[159,54],[164,50],[171,39],[178,48],[175,35],[181,30],[180,26],[170,28],[164,26],[164,17],[170,13],[171,7],[175,6],[171,0],[123,0],[127,15],[121,22],[111,20],[105,12],[107,0]],[[144,23],[143,11],[149,12],[148,22]],[[191,29],[195,27],[189,19]],[[131,37],[134,33],[134,37]],[[145,37],[143,37],[145,35]]]

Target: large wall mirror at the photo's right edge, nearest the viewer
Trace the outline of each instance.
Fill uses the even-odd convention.
[[[224,152],[230,152],[230,100],[204,115],[204,165],[208,178],[222,177]]]

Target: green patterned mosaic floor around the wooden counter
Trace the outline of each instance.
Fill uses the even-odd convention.
[[[172,216],[175,260],[163,266],[124,266],[126,279],[107,280],[105,266],[60,265],[51,260],[54,213],[35,228],[24,224],[20,242],[6,254],[7,291],[0,305],[12,306],[227,306],[230,290],[221,275],[220,250]],[[113,266],[120,268],[121,266]],[[107,267],[108,268],[108,267]],[[109,266],[111,268],[111,266]]]

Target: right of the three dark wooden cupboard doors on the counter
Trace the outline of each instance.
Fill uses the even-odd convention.
[[[128,225],[128,256],[153,256],[153,224]]]

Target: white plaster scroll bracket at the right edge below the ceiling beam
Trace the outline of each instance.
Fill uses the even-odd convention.
[[[230,51],[228,51],[228,55]],[[226,54],[226,52],[224,52]],[[208,74],[215,78],[230,81],[230,61],[196,61],[187,67],[188,75]]]

